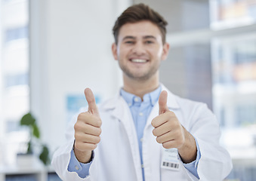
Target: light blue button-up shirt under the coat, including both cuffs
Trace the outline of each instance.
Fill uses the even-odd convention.
[[[137,131],[137,140],[139,144],[140,149],[140,162],[143,165],[143,155],[142,155],[142,141],[143,141],[143,130],[147,123],[147,118],[150,115],[150,112],[153,109],[153,106],[158,103],[159,95],[161,93],[161,87],[158,87],[156,90],[153,90],[153,92],[150,92],[149,94],[145,94],[143,96],[143,100],[140,99],[140,97],[135,96],[134,94],[130,94],[126,92],[125,90],[121,89],[120,94],[128,103],[128,106],[131,110],[131,115],[134,120],[134,126]],[[196,139],[195,139],[196,140]],[[197,156],[196,161],[193,161],[189,164],[184,164],[184,167],[187,168],[187,170],[190,170],[191,173],[193,173],[194,176],[198,177],[197,173],[197,164],[199,161],[199,158],[201,157],[199,146],[196,141],[196,147],[197,147]],[[71,152],[71,158],[69,161],[69,171],[75,171],[79,174],[80,177],[85,178],[85,176],[88,176],[88,170],[91,166],[91,163],[88,164],[82,164],[77,161],[76,156],[74,152]],[[144,179],[144,171],[142,167],[142,174],[143,174],[143,180]]]

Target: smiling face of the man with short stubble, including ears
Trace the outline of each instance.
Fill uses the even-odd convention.
[[[168,44],[162,43],[158,26],[145,20],[123,25],[118,44],[114,43],[112,50],[124,78],[146,81],[158,78],[160,63],[168,55]]]

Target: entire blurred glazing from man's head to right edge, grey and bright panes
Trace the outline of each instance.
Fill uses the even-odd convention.
[[[255,180],[256,0],[171,2],[177,5],[165,5],[172,12],[168,23],[179,29],[168,31],[171,49],[160,80],[174,94],[207,103],[217,116],[221,144],[233,159],[227,180]]]

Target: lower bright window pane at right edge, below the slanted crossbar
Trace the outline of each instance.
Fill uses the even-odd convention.
[[[214,112],[224,129],[224,145],[242,157],[246,153],[237,150],[255,147],[256,34],[214,38],[212,50]],[[238,130],[247,140],[234,137]]]

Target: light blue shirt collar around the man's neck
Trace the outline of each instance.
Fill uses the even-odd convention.
[[[161,93],[162,87],[159,86],[156,90],[153,90],[152,92],[145,94],[143,96],[143,102],[144,103],[150,103],[151,106],[154,106],[155,103],[159,99],[159,95]],[[126,103],[128,103],[128,106],[134,106],[135,103],[141,103],[140,97],[135,96],[134,94],[126,92],[123,88],[120,90],[120,95],[124,98]]]

